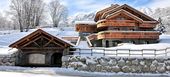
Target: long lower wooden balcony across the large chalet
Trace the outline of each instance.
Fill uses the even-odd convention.
[[[159,32],[155,31],[103,31],[97,39],[159,39]]]

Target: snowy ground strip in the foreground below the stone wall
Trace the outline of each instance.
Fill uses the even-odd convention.
[[[169,77],[169,73],[107,73],[76,71],[72,68],[49,68],[49,67],[9,67],[0,66],[2,77]]]

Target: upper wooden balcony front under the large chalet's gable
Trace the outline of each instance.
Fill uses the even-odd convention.
[[[97,22],[97,28],[101,27],[134,27],[134,20],[101,20]]]

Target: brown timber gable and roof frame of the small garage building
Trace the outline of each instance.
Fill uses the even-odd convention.
[[[45,39],[46,41],[48,41],[46,44],[43,44],[42,42],[44,41],[43,39]],[[38,44],[37,42],[35,42],[36,40],[41,40],[41,44]],[[36,45],[33,47],[28,47],[27,45],[34,43]],[[72,44],[63,41],[63,39],[61,38],[57,38],[45,31],[43,31],[42,29],[38,29],[34,32],[32,32],[31,34],[29,34],[28,36],[25,36],[23,38],[21,38],[20,40],[14,42],[13,44],[9,45],[9,47],[13,47],[13,48],[19,48],[19,49],[30,49],[30,48],[42,48],[42,49],[48,49],[48,46],[50,43],[56,44],[58,46],[61,46],[59,48],[65,48],[65,47],[69,47],[69,46],[73,46]],[[42,45],[43,44],[43,45]],[[50,48],[54,48],[54,49],[58,49],[56,46],[55,47],[50,47]]]

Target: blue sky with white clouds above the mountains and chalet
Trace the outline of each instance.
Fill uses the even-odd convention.
[[[0,0],[0,11],[9,7],[10,0]],[[50,0],[44,0],[48,3]],[[170,0],[60,0],[61,4],[68,7],[69,16],[77,13],[95,12],[110,6],[111,4],[128,4],[135,8],[158,8],[169,7]]]

